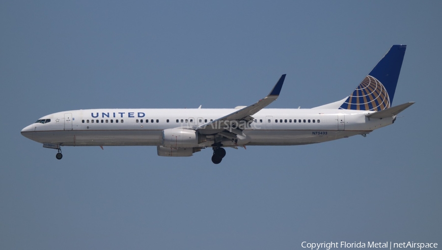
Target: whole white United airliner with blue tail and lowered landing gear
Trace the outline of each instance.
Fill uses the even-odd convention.
[[[270,93],[234,109],[91,109],[49,114],[21,134],[57,150],[62,146],[156,146],[159,156],[185,157],[212,148],[221,163],[224,148],[304,145],[366,136],[393,124],[414,104],[391,106],[406,45],[393,45],[350,96],[311,109],[264,109],[275,101],[282,75]]]

